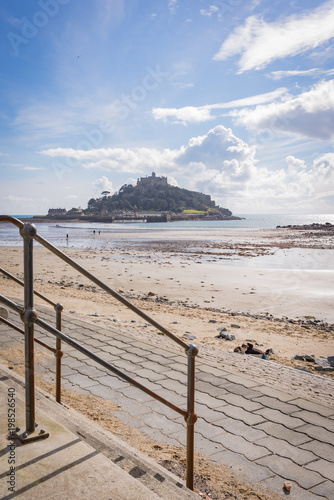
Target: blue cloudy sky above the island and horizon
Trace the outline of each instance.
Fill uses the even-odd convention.
[[[334,0],[2,0],[0,213],[155,172],[234,214],[334,213]]]

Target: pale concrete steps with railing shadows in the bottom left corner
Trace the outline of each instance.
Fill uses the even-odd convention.
[[[175,475],[71,408],[36,388],[38,429],[50,436],[24,446],[8,440],[9,394],[15,395],[15,425],[25,429],[24,380],[0,365],[0,498],[8,490],[11,457],[15,462],[15,498],[100,500],[198,499]],[[11,412],[12,414],[12,412]]]

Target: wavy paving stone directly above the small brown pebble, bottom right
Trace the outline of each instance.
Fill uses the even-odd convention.
[[[264,465],[285,479],[295,481],[300,487],[309,489],[323,482],[323,477],[317,472],[306,470],[295,464],[288,458],[279,457],[277,455],[269,455],[260,458],[256,461],[260,465]]]

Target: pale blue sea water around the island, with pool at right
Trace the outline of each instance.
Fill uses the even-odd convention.
[[[120,241],[131,242],[133,240],[149,240],[154,235],[159,238],[164,236],[168,239],[182,239],[182,233],[187,233],[191,239],[191,233],[200,232],[207,240],[215,240],[216,235],[221,237],[224,228],[231,230],[246,229],[275,229],[277,226],[302,225],[302,224],[334,224],[334,214],[236,214],[241,220],[229,221],[177,221],[164,223],[146,222],[117,222],[117,223],[95,223],[95,222],[67,222],[67,223],[36,223],[38,233],[58,248],[76,248],[105,250]],[[31,215],[14,215],[24,222]],[[68,238],[66,237],[68,235]],[[99,237],[101,235],[101,237]],[[115,238],[113,239],[113,235]],[[110,237],[109,237],[110,236]],[[37,246],[38,244],[35,243]],[[16,226],[9,223],[0,223],[0,246],[22,246],[22,238]],[[222,262],[224,263],[224,262]],[[310,264],[311,263],[311,264]],[[229,265],[270,267],[280,269],[334,269],[334,252],[328,250],[304,250],[290,249],[289,251],[277,251],[274,255],[257,258],[234,259],[226,261]]]

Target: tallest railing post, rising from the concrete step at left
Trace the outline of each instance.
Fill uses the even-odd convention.
[[[24,310],[21,319],[25,330],[25,394],[26,432],[35,431],[35,366],[34,366],[34,309],[33,238],[37,229],[33,224],[24,224],[20,229],[24,249]]]

